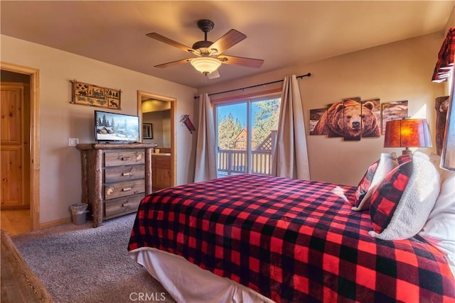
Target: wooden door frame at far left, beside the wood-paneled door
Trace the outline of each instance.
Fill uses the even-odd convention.
[[[40,71],[7,62],[0,62],[0,69],[30,76],[30,228],[36,231],[40,225]]]

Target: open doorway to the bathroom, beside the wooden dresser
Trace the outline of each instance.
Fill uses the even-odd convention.
[[[159,182],[152,182],[152,187],[160,189],[175,186],[176,99],[137,91],[137,116],[140,123],[144,123],[142,130],[147,131],[147,134],[141,133],[142,142],[158,145],[155,151],[159,153],[152,155],[152,179],[158,178]],[[155,121],[158,123],[151,123],[150,119],[157,119]],[[154,161],[154,158],[159,162]],[[160,161],[164,166],[160,166]]]

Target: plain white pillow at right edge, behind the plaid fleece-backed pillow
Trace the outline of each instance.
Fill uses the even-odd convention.
[[[419,236],[447,255],[455,275],[455,172],[447,171],[436,204]]]

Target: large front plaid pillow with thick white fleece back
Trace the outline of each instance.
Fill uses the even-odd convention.
[[[416,152],[412,160],[403,157],[400,162],[371,195],[369,233],[382,240],[415,236],[439,195],[439,173],[427,155]]]

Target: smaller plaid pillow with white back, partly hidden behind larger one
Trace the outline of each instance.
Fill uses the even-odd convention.
[[[370,206],[370,194],[373,191],[373,188],[376,184],[381,182],[385,175],[395,168],[395,166],[395,154],[382,153],[381,158],[368,167],[368,170],[360,180],[352,199],[354,202],[353,210],[360,211],[362,209],[368,209]]]

